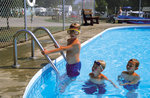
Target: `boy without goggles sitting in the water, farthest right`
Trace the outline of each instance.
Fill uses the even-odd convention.
[[[131,91],[138,88],[140,76],[135,73],[139,67],[139,61],[137,59],[130,59],[126,66],[127,71],[123,71],[118,76],[118,82],[125,89]]]

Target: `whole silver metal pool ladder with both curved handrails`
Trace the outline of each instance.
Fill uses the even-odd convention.
[[[56,42],[56,40],[54,39],[53,35],[50,33],[50,31],[45,28],[45,27],[38,27],[36,29],[33,30],[33,32],[29,31],[29,30],[19,30],[16,32],[16,34],[13,36],[13,56],[14,56],[14,65],[12,65],[12,67],[15,68],[19,68],[20,65],[18,64],[18,57],[17,57],[17,37],[21,34],[21,33],[28,33],[31,36],[31,57],[34,58],[34,41],[37,43],[37,45],[39,46],[41,51],[44,51],[43,46],[40,44],[39,40],[36,38],[36,36],[34,35],[34,33],[36,33],[37,31],[42,30],[45,31],[49,37],[52,39],[52,41],[56,44],[56,46],[59,48],[60,46],[58,45],[58,43]],[[64,59],[66,60],[66,57],[64,55],[64,53],[61,51],[62,56],[64,57]],[[51,67],[55,70],[56,73],[59,73],[58,69],[56,68],[56,66],[53,64],[52,60],[49,58],[48,55],[44,55],[45,58],[47,59],[47,61],[51,64]],[[66,60],[67,61],[67,60]]]

